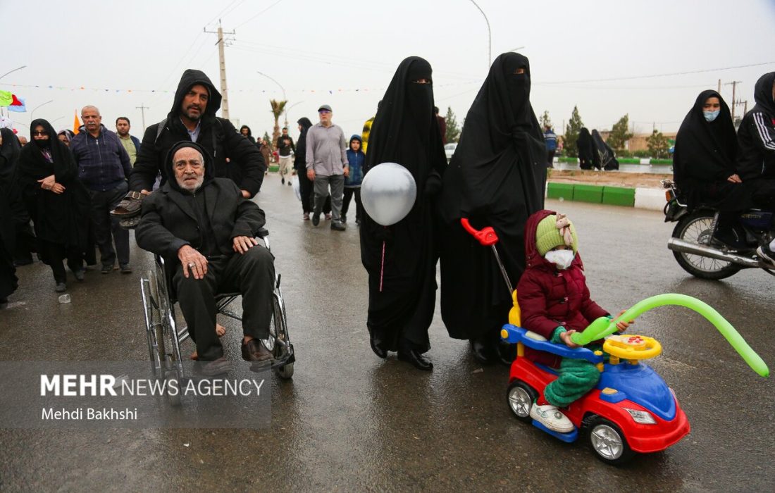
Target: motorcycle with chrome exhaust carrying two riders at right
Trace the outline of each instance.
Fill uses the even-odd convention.
[[[739,217],[741,237],[748,247],[733,250],[714,239],[718,211],[700,206],[690,211],[681,202],[679,190],[672,180],[663,180],[667,204],[663,209],[665,222],[676,222],[667,248],[673,250],[678,264],[701,279],[725,279],[742,269],[760,268],[775,276],[756,254],[756,247],[773,240],[773,212],[749,209]]]

